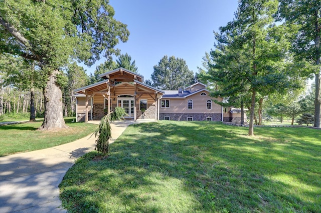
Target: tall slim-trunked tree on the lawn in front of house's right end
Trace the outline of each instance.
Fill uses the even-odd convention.
[[[216,80],[223,79],[223,84],[229,80],[232,90],[250,94],[249,135],[254,135],[258,95],[261,107],[266,95],[291,87],[289,78],[295,76],[286,65],[291,62],[287,29],[274,24],[277,6],[277,0],[240,0],[235,19],[220,27],[211,51]]]

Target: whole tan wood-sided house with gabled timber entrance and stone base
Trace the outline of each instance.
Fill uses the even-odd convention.
[[[100,119],[116,106],[126,119],[232,121],[231,108],[223,108],[209,96],[203,83],[178,90],[161,90],[144,83],[142,75],[117,68],[99,75],[102,81],[75,90],[76,121]]]

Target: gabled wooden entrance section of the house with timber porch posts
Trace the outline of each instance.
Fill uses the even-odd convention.
[[[126,119],[157,119],[157,105],[164,91],[143,83],[143,76],[124,68],[99,75],[104,80],[76,89],[77,121],[100,119],[116,106]]]

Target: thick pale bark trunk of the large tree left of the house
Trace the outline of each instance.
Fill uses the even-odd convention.
[[[39,129],[68,128],[62,113],[62,92],[57,85],[56,76],[59,70],[55,69],[49,75],[46,87],[43,89],[45,97],[44,122]]]

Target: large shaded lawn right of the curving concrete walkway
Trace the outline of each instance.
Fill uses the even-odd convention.
[[[60,184],[70,212],[321,212],[321,131],[141,123]]]

